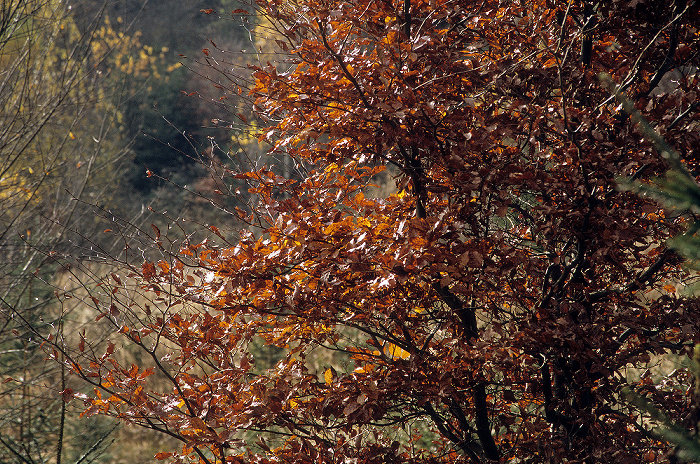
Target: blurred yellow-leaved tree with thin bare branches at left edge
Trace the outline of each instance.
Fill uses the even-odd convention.
[[[76,21],[84,13],[63,0],[0,4],[0,462],[94,460],[110,431],[75,428],[51,391],[65,375],[32,342],[77,330],[52,298],[54,254],[94,258],[110,246],[85,237],[100,228],[95,207],[120,204],[122,104],[167,73],[161,52],[102,11]]]

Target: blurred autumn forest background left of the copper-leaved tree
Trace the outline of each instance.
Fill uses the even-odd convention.
[[[133,228],[135,246],[138,228],[165,229],[171,218],[194,221],[180,222],[179,237],[200,230],[217,218],[206,207],[216,185],[205,149],[260,154],[250,127],[216,129],[221,107],[199,93],[209,85],[197,64],[209,40],[241,56],[254,50],[255,22],[232,17],[237,7],[2,2],[0,462],[146,463],[163,448],[167,437],[79,419],[80,408],[58,394],[65,371],[46,362],[32,331],[60,326],[70,337],[94,319],[80,304],[59,303],[56,292],[70,294],[76,279],[106,271],[107,256],[123,256],[124,243],[105,233],[115,218]],[[155,175],[147,178],[147,169]]]

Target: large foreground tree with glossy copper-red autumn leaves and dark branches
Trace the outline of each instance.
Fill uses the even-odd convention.
[[[92,300],[148,363],[89,334],[54,348],[94,386],[86,414],[178,438],[176,462],[663,460],[621,392],[693,417],[687,371],[652,381],[699,341],[665,246],[690,216],[617,188],[668,162],[598,75],[697,169],[697,4],[258,5],[287,67],[249,95],[299,177],[227,171],[255,200],[237,241],[169,253],[154,229],[162,259]],[[283,355],[261,368],[256,342]]]

